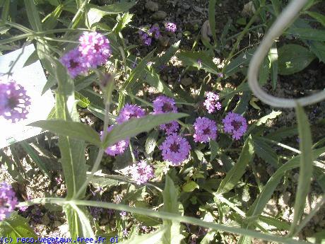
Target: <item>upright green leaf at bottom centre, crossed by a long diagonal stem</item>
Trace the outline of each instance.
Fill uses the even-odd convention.
[[[164,199],[162,211],[179,214],[177,187],[175,187],[169,175],[166,175],[165,189],[162,192],[162,197]],[[167,228],[167,231],[162,236],[162,244],[179,244],[184,238],[180,233],[179,221],[164,220],[161,228]]]

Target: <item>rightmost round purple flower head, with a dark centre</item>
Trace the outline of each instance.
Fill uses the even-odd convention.
[[[239,140],[247,131],[246,119],[235,112],[228,112],[228,115],[223,119],[223,130],[232,134],[233,139]]]

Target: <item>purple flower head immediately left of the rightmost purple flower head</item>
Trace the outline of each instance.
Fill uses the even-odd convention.
[[[194,129],[193,137],[196,142],[208,142],[217,137],[217,125],[207,117],[198,117],[194,122]]]

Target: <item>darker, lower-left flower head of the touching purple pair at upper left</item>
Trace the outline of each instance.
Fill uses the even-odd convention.
[[[61,63],[66,66],[71,78],[75,78],[79,74],[85,74],[87,67],[84,65],[84,57],[77,49],[71,50],[64,54],[60,59]]]

